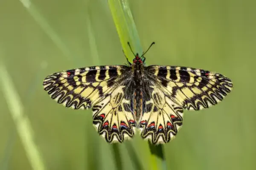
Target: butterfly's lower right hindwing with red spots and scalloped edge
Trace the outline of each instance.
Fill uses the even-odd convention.
[[[157,85],[148,89],[151,94],[145,102],[140,121],[141,136],[153,144],[167,143],[175,138],[183,121],[183,108],[172,101]]]

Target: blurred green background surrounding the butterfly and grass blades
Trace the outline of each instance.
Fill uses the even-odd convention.
[[[167,169],[256,169],[256,2],[129,2],[143,49],[156,42],[145,56],[148,65],[202,68],[234,83],[220,104],[185,112],[177,138],[164,146]],[[23,3],[0,1],[0,62],[20,96],[46,169],[116,169],[113,146],[97,134],[92,112],[64,108],[42,87],[56,71],[126,62],[107,0]],[[1,83],[0,169],[30,170],[5,91]],[[148,144],[139,135],[116,147],[123,170],[150,169]]]

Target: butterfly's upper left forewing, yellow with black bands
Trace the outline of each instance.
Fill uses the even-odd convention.
[[[67,108],[91,108],[123,81],[130,68],[124,65],[94,66],[61,71],[44,79],[44,90]]]

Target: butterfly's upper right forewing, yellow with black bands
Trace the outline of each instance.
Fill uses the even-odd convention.
[[[229,78],[196,68],[151,65],[145,72],[176,104],[188,110],[216,105],[233,88]]]

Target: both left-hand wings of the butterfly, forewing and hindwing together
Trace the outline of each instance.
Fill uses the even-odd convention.
[[[134,135],[129,85],[131,69],[123,65],[61,71],[44,79],[44,90],[67,108],[93,108],[93,124],[107,142],[122,142]]]

